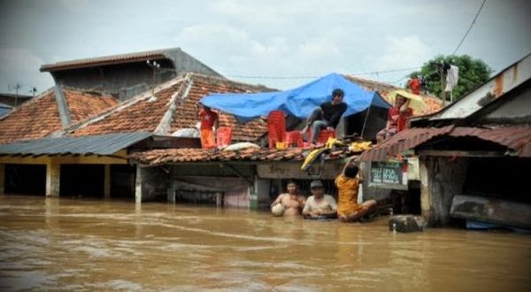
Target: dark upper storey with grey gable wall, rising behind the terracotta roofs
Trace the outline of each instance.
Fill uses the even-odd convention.
[[[106,92],[120,100],[136,96],[182,73],[221,77],[180,48],[81,58],[41,66],[56,86]]]

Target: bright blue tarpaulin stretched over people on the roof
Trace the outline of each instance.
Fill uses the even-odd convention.
[[[331,100],[335,88],[342,88],[345,92],[343,101],[348,107],[343,117],[365,111],[371,105],[384,109],[391,107],[377,92],[360,88],[338,73],[330,73],[298,88],[284,91],[211,94],[204,96],[200,103],[230,113],[242,122],[266,116],[269,111],[284,111],[305,119],[319,104]]]

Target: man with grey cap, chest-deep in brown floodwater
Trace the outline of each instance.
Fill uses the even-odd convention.
[[[312,181],[312,196],[308,197],[304,204],[303,216],[305,219],[335,218],[337,204],[334,196],[325,195],[325,189],[321,181]]]

